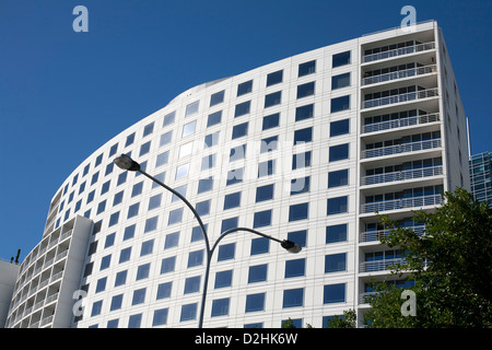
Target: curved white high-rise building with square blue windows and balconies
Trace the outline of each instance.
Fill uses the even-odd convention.
[[[379,213],[422,231],[412,210],[469,189],[465,112],[434,21],[296,55],[195,86],[126,129],[56,192],[21,266],[8,327],[196,327],[204,241],[220,242],[204,327],[320,328],[367,310],[371,277],[401,252]],[[395,278],[395,283],[405,287]],[[79,306],[83,306],[81,310]]]

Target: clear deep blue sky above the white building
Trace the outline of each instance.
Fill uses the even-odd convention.
[[[398,26],[406,4],[438,21],[472,152],[492,151],[490,0],[0,0],[0,258],[23,259],[67,176],[180,92]]]

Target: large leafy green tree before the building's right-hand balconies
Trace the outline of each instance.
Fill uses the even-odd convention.
[[[368,298],[368,327],[492,327],[492,210],[458,188],[443,195],[435,212],[419,211],[414,220],[425,224],[425,234],[394,228],[382,244],[399,246],[405,259],[394,273],[410,271],[417,295],[417,316],[402,316],[401,290],[374,283],[379,293]]]

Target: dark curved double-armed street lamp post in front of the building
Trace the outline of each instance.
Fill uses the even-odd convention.
[[[141,167],[140,167],[140,164],[137,163],[136,161],[133,161],[130,156],[128,156],[126,154],[121,154],[120,156],[117,156],[114,160],[114,163],[119,168],[121,168],[124,171],[139,172],[140,174],[149,177],[151,180],[153,180],[154,183],[161,185],[162,187],[164,187],[168,191],[173,192],[173,195],[176,195],[180,200],[183,200],[185,202],[185,205],[191,210],[191,212],[194,213],[195,218],[197,219],[198,224],[200,225],[201,232],[203,233],[203,237],[204,237],[204,242],[206,242],[206,252],[207,252],[207,265],[206,265],[206,273],[204,273],[204,278],[203,278],[203,292],[202,292],[202,295],[201,295],[201,306],[200,306],[200,316],[199,316],[199,319],[198,319],[198,328],[202,328],[203,327],[203,314],[204,314],[204,304],[206,304],[206,300],[207,300],[207,289],[208,289],[208,284],[209,284],[210,262],[212,261],[213,252],[215,250],[216,246],[219,245],[219,242],[221,242],[221,240],[223,237],[225,237],[226,235],[229,235],[231,233],[237,232],[237,231],[246,231],[246,232],[250,232],[250,233],[254,233],[256,235],[262,236],[265,238],[274,241],[277,243],[280,243],[282,248],[284,248],[289,253],[296,254],[296,253],[301,252],[301,249],[302,249],[302,247],[297,243],[294,243],[294,242],[289,241],[289,240],[281,241],[281,240],[274,238],[272,236],[266,235],[266,234],[263,234],[261,232],[258,232],[256,230],[248,229],[248,228],[234,228],[234,229],[230,229],[230,230],[224,231],[220,235],[220,237],[215,241],[213,246],[210,248],[209,236],[207,234],[206,226],[203,225],[203,222],[201,221],[200,215],[195,210],[194,206],[191,206],[191,203],[181,194],[179,194],[178,191],[174,190],[173,188],[171,188],[166,184],[160,182],[155,177],[153,177],[153,176],[149,175],[148,173],[145,173],[144,171],[142,171]]]

